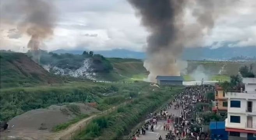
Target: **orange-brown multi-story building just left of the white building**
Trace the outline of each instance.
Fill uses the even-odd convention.
[[[219,86],[219,84],[215,84],[215,107],[214,110],[219,112],[221,115],[226,114],[228,110],[228,100],[225,98],[224,89]]]

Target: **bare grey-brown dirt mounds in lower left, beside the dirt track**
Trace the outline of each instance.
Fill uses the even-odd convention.
[[[83,103],[74,103],[82,114],[99,112]],[[44,139],[52,135],[52,128],[76,117],[67,105],[51,105],[47,109],[34,109],[12,118],[8,129],[1,132],[1,139]]]

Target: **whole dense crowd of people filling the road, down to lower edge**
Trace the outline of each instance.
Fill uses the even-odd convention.
[[[182,140],[182,139],[194,139],[201,140],[207,139],[208,134],[203,132],[203,128],[198,128],[197,121],[192,118],[192,112],[196,111],[193,104],[198,102],[208,102],[205,97],[205,93],[214,92],[214,86],[202,85],[202,86],[189,86],[185,90],[173,97],[168,104],[165,105],[159,113],[150,113],[150,119],[142,126],[141,134],[145,135],[146,130],[150,127],[150,131],[154,131],[154,125],[159,120],[166,120],[163,124],[164,131],[168,131],[165,135],[166,140]],[[179,109],[179,114],[172,114],[167,112],[167,109],[172,108]],[[140,130],[136,131],[137,137],[140,134]],[[136,140],[135,134],[133,140]],[[160,135],[159,140],[162,140]]]

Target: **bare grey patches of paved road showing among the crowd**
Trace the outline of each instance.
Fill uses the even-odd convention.
[[[175,114],[175,116],[178,116],[178,112],[181,111],[181,107],[180,109],[174,109],[174,106],[171,107],[171,109],[168,109],[167,112],[168,114]],[[163,140],[165,139],[165,135],[166,133],[168,133],[168,131],[164,131],[164,126],[163,124],[166,124],[167,121],[164,120],[159,120],[157,121],[157,125],[154,126],[154,132],[150,131],[150,126],[148,126],[148,131],[146,131],[146,135],[139,135],[139,137],[137,137],[137,140],[158,140],[158,138],[160,137],[160,135],[162,136]],[[173,124],[169,124],[170,126],[170,130],[173,130]]]

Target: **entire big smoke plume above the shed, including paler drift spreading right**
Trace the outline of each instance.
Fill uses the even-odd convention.
[[[147,59],[144,67],[150,72],[148,81],[157,75],[179,76],[184,65],[178,60],[185,46],[199,45],[210,33],[214,20],[236,0],[128,0],[141,16],[141,23],[150,32],[147,37]],[[190,9],[195,22],[184,21]],[[193,44],[193,45],[194,45]],[[197,46],[199,47],[199,46]]]

